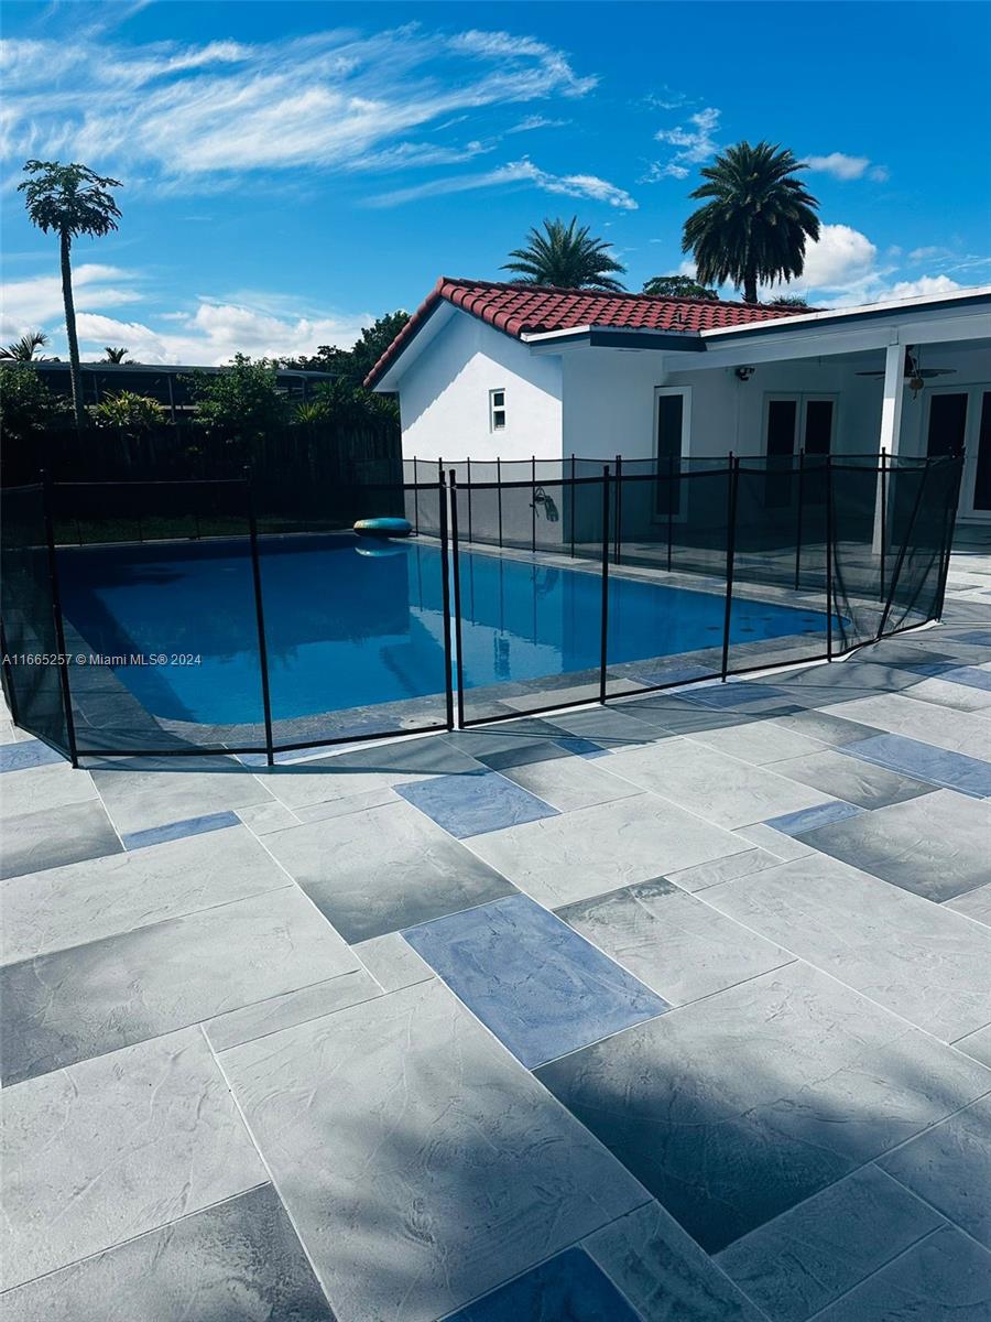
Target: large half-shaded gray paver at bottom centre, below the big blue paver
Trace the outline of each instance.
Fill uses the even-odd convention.
[[[439,980],[221,1063],[344,1322],[432,1322],[646,1200]]]

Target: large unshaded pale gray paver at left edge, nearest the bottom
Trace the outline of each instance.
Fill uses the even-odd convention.
[[[7,1089],[4,1141],[5,1286],[266,1179],[198,1029]]]

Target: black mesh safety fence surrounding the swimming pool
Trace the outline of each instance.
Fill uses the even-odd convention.
[[[250,475],[7,488],[3,686],[70,758],[271,761],[828,658],[938,616],[962,464],[407,460],[291,518]]]

